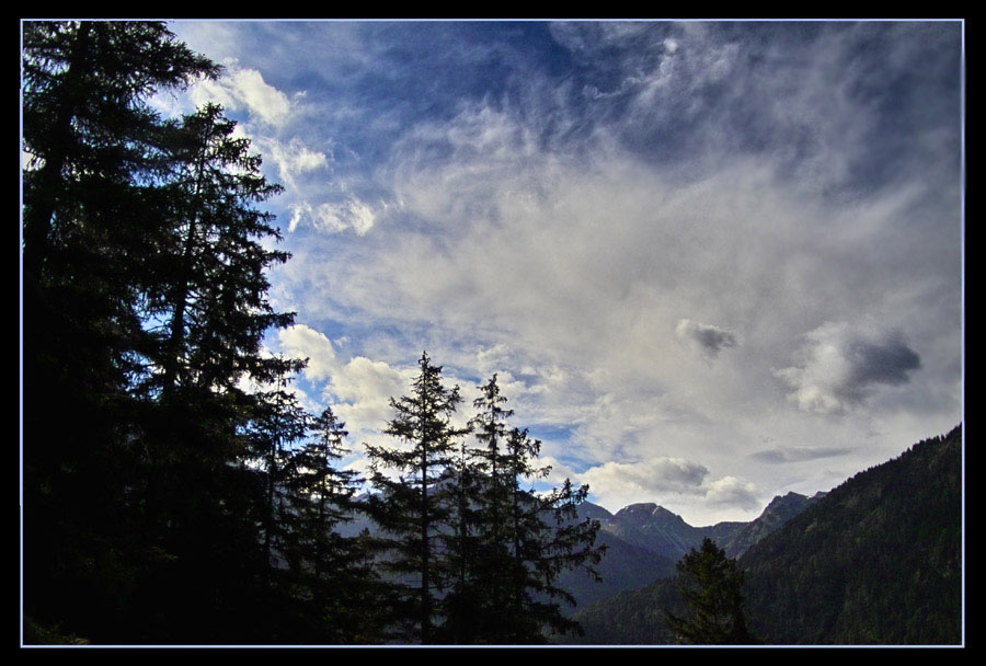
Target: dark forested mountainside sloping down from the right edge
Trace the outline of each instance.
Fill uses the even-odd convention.
[[[961,512],[961,426],[809,502],[775,498],[733,536],[756,539],[738,559],[748,625],[776,645],[960,644]],[[576,611],[577,642],[666,644],[665,610],[683,610],[673,577]]]

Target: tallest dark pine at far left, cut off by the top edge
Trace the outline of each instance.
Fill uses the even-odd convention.
[[[219,70],[160,22],[24,22],[23,47],[25,610],[99,640],[133,621],[159,556],[134,498],[148,423],[130,391],[168,164],[147,100]]]

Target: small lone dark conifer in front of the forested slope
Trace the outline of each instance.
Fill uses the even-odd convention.
[[[743,570],[706,538],[678,562],[678,589],[688,615],[665,611],[678,642],[691,645],[747,645],[756,641],[743,615]]]

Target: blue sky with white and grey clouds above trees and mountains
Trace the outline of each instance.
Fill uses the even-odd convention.
[[[426,349],[555,479],[692,525],[962,418],[956,22],[174,22],[285,193],[297,390],[379,441]]]

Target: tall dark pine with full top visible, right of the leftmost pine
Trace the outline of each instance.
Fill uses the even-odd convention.
[[[280,234],[273,216],[257,208],[280,188],[260,173],[261,158],[248,139],[234,138],[234,127],[221,107],[206,104],[162,134],[171,162],[154,202],[164,223],[153,239],[157,254],[147,265],[139,310],[147,371],[133,382],[154,420],[144,437],[145,530],[171,556],[218,572],[216,582],[198,586],[214,592],[196,607],[202,623],[213,625],[213,640],[222,632],[256,640],[256,632],[245,632],[253,622],[268,636],[291,631],[290,590],[279,570],[286,537],[278,484],[308,418],[286,388],[305,361],[262,353],[265,333],[294,321],[294,313],[275,312],[267,301],[266,272],[288,255],[268,249]],[[270,388],[251,391],[248,382]],[[191,492],[188,478],[202,479]],[[203,515],[239,532],[238,553],[215,541]],[[264,599],[266,619],[233,620],[233,613],[216,627],[215,613],[238,585],[227,575],[236,567],[220,555],[249,562],[239,574],[252,582],[243,587]],[[171,596],[179,589],[159,594],[179,605]]]

